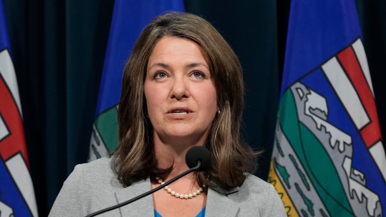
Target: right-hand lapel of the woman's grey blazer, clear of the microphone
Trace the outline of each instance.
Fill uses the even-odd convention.
[[[238,188],[233,192],[238,191]],[[233,193],[227,192],[227,193]],[[225,192],[224,192],[225,193]],[[237,217],[240,212],[240,207],[233,200],[211,188],[208,189],[206,199],[205,217]]]

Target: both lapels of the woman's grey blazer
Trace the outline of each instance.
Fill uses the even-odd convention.
[[[130,200],[140,194],[143,194],[144,192],[149,190],[151,190],[151,183],[150,179],[147,178],[146,180],[138,181],[129,187],[115,191],[115,197],[117,203],[119,204]],[[209,188],[206,199],[205,217],[236,217],[240,212],[240,207],[237,203],[228,198],[227,195],[233,194],[237,191],[239,191],[238,187],[229,191]],[[134,210],[135,212],[133,212]],[[151,194],[147,195],[144,198],[139,199],[138,201],[135,201],[131,204],[119,208],[119,212],[121,216],[125,217],[153,217],[153,198]]]

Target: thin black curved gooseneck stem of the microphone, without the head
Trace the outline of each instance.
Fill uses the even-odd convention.
[[[136,201],[136,200],[139,200],[139,199],[141,199],[141,198],[143,198],[143,197],[145,197],[145,196],[147,196],[147,195],[149,195],[149,194],[154,193],[155,191],[158,191],[159,189],[161,189],[161,188],[165,187],[166,185],[168,185],[168,184],[174,182],[175,180],[181,178],[182,176],[184,176],[184,175],[186,175],[186,174],[190,174],[190,173],[192,173],[193,171],[196,171],[196,170],[200,169],[200,167],[201,167],[201,160],[197,160],[197,165],[196,165],[195,167],[193,167],[193,168],[191,168],[191,169],[185,171],[185,172],[182,173],[182,174],[179,174],[179,175],[175,176],[174,178],[170,179],[169,181],[165,182],[164,184],[162,184],[162,185],[160,185],[160,186],[158,186],[158,187],[156,187],[156,188],[154,188],[154,189],[151,189],[150,191],[147,191],[147,192],[145,192],[145,193],[143,193],[143,194],[140,194],[140,195],[138,195],[137,197],[134,197],[134,198],[132,198],[132,199],[130,199],[130,200],[128,200],[128,201],[122,202],[122,203],[117,204],[117,205],[112,206],[112,207],[108,207],[108,208],[103,209],[103,210],[99,210],[99,211],[97,211],[97,212],[95,212],[95,213],[92,213],[92,214],[86,216],[86,217],[94,217],[94,216],[97,216],[97,215],[99,215],[99,214],[108,212],[108,211],[110,211],[110,210],[114,210],[114,209],[117,209],[117,208],[119,208],[119,207],[122,207],[122,206],[125,206],[125,205],[127,205],[127,204],[130,204],[130,203],[132,203],[132,202],[134,202],[134,201]]]

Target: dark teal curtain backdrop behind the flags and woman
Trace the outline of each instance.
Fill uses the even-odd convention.
[[[386,2],[356,0],[385,137]],[[31,175],[40,216],[74,166],[87,161],[112,0],[4,0]],[[186,0],[241,60],[246,85],[244,139],[264,150],[266,178],[283,71],[290,0]]]

